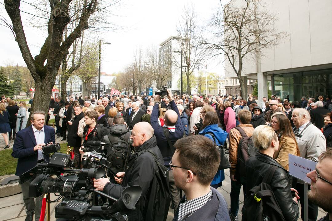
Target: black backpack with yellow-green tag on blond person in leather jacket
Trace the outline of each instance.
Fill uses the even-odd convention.
[[[242,207],[242,220],[285,221],[285,217],[270,186],[277,168],[277,166],[271,166],[267,170],[262,183],[249,191]]]

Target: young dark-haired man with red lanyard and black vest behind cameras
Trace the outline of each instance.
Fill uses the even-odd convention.
[[[85,112],[84,118],[86,126],[84,127],[83,132],[83,145],[79,149],[81,154],[84,153],[84,147],[99,147],[99,145],[88,144],[88,141],[102,141],[103,137],[108,135],[107,127],[97,124],[97,111]],[[98,128],[100,128],[100,130]]]

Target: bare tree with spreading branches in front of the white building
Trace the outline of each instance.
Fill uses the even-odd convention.
[[[278,44],[286,36],[285,32],[278,32],[273,26],[276,15],[264,7],[258,9],[258,6],[261,6],[258,0],[243,0],[241,4],[231,0],[224,7],[220,4],[209,22],[213,38],[204,41],[214,51],[214,56],[224,55],[228,60],[242,93],[246,86],[241,78],[244,59],[263,56],[262,49]]]

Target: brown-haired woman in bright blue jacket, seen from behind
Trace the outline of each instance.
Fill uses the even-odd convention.
[[[199,135],[203,135],[213,140],[217,146],[224,145],[227,138],[227,132],[223,131],[220,127],[218,127],[218,125],[219,125],[219,118],[215,112],[205,113],[203,119],[202,131],[199,133]],[[222,181],[224,179],[225,179],[224,170],[218,170],[211,182],[211,187],[215,189],[221,187]]]

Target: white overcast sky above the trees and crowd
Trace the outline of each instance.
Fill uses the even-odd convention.
[[[0,1],[2,2],[2,1]],[[27,0],[27,2],[31,2]],[[219,0],[122,0],[112,9],[116,16],[110,22],[121,27],[122,30],[108,31],[90,37],[96,43],[99,38],[111,45],[102,44],[101,71],[108,74],[117,73],[133,61],[134,52],[141,47],[143,50],[158,50],[159,44],[171,35],[176,35],[176,27],[186,5],[195,7],[197,20],[205,24],[220,6]],[[33,13],[34,9],[27,5],[27,12]],[[22,9],[22,8],[21,8]],[[3,4],[0,4],[0,15],[8,18]],[[33,57],[39,53],[45,40],[43,32],[31,27],[29,22],[24,24],[27,41]],[[9,28],[0,26],[0,65],[26,66],[19,50],[18,44]],[[218,59],[207,61],[207,71],[224,75],[223,66]]]

